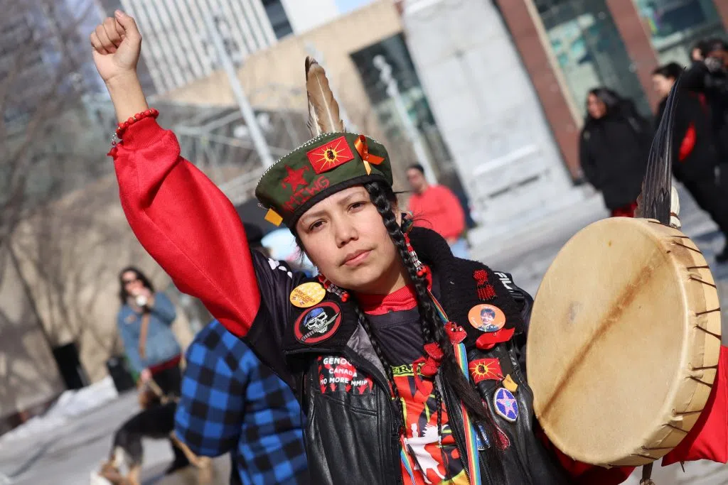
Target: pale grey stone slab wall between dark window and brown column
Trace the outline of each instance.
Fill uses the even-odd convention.
[[[491,2],[406,1],[407,43],[480,223],[475,246],[585,197]],[[437,33],[438,35],[433,35]]]

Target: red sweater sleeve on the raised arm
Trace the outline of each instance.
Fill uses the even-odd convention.
[[[261,297],[232,203],[154,119],[132,124],[109,154],[124,214],[144,249],[181,292],[202,300],[233,334],[246,334]]]

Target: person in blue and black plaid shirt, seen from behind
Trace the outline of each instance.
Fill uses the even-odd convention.
[[[195,454],[229,452],[231,484],[308,483],[301,408],[288,385],[217,320],[189,346],[175,433]]]

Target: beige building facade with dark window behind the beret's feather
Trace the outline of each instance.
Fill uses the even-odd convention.
[[[268,49],[251,54],[237,68],[237,78],[256,111],[305,113],[304,59],[306,55],[314,55],[326,68],[331,87],[347,115],[344,116],[349,121],[347,125],[390,142],[387,146],[392,158],[399,161],[395,178],[401,182],[404,167],[416,159],[411,146],[404,140],[402,129],[397,128],[396,115],[387,104],[384,85],[378,81],[373,65],[373,57],[385,51],[391,52],[388,59],[392,63],[397,60],[395,71],[405,104],[419,124],[419,116],[415,113],[422,109],[427,112],[426,103],[423,103],[427,100],[414,65],[407,57],[400,12],[389,0],[373,2],[304,33],[279,39]],[[210,76],[167,92],[160,98],[189,105],[235,105],[232,89],[222,71],[214,71]],[[432,122],[434,124],[434,120]],[[306,133],[297,136],[298,143],[307,139]],[[433,147],[436,145],[438,143],[432,143]],[[439,145],[443,150],[444,144],[440,141]],[[254,174],[251,181],[252,185],[240,183],[240,186],[246,190],[252,188],[256,181]],[[400,188],[406,187],[400,185]],[[238,199],[237,196],[232,198]]]

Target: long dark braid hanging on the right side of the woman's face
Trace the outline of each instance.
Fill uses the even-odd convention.
[[[384,222],[384,227],[387,228],[389,237],[400,253],[400,258],[403,262],[405,269],[414,284],[415,292],[417,294],[417,308],[420,314],[421,331],[424,343],[437,342],[440,345],[440,349],[443,350],[443,359],[441,361],[441,368],[443,372],[443,382],[447,382],[453,388],[456,396],[462,401],[467,412],[470,414],[472,420],[480,425],[483,425],[483,430],[486,433],[488,441],[491,444],[495,444],[498,434],[496,432],[496,424],[490,409],[483,406],[480,392],[476,392],[472,388],[472,383],[465,379],[462,374],[462,370],[457,364],[453,345],[445,332],[445,326],[440,321],[438,310],[435,308],[435,304],[430,298],[430,294],[427,288],[427,279],[425,276],[417,275],[417,268],[412,261],[409,251],[407,249],[407,243],[405,241],[404,233],[402,228],[397,224],[395,213],[392,211],[391,201],[395,199],[392,189],[385,189],[379,183],[365,183],[364,188],[368,191],[371,201],[376,207],[379,215]],[[438,433],[442,436],[441,430],[441,412],[442,406],[440,404],[442,396],[440,396],[440,390],[438,386],[433,386],[435,393],[435,399],[438,402]],[[498,446],[488,446],[486,449],[486,462],[488,465],[489,474],[494,479],[494,483],[505,483],[505,470],[503,469],[502,461],[499,457],[500,450]]]

